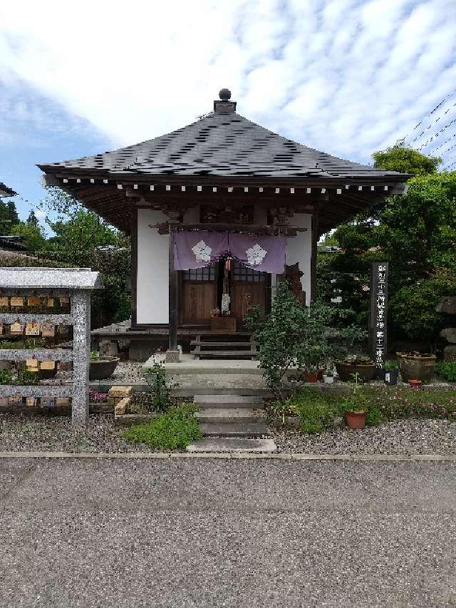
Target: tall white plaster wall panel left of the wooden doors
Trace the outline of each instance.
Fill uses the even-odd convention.
[[[159,235],[149,224],[165,222],[161,211],[138,209],[138,282],[136,321],[168,323],[168,235]]]

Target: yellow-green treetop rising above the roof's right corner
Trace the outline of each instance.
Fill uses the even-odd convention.
[[[411,175],[427,175],[435,173],[441,158],[425,156],[413,148],[397,143],[386,150],[374,152],[372,155],[374,167],[388,171],[400,171]]]

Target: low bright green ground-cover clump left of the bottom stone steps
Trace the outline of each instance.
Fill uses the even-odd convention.
[[[201,438],[195,411],[197,408],[190,404],[170,408],[147,423],[128,428],[123,437],[147,443],[152,450],[185,450],[189,443]]]

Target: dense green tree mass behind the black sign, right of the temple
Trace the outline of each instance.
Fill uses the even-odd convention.
[[[456,172],[437,173],[439,159],[401,145],[373,156],[376,166],[415,177],[407,194],[336,230],[342,251],[319,254],[318,293],[326,302],[341,294],[343,306],[366,326],[370,263],[390,262],[390,336],[432,345],[443,322],[435,313],[440,294],[456,294]]]

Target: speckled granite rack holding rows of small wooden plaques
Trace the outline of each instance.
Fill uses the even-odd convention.
[[[84,426],[88,421],[88,369],[90,364],[90,294],[100,289],[98,272],[90,268],[0,268],[0,292],[12,296],[68,296],[69,314],[52,311],[33,313],[2,313],[0,323],[36,321],[73,325],[73,349],[0,349],[0,361],[73,361],[73,383],[64,385],[0,385],[0,396],[71,397],[73,426]]]

